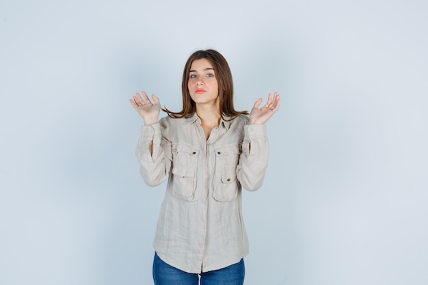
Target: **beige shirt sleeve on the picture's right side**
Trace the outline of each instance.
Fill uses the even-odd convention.
[[[264,124],[244,127],[242,152],[237,165],[237,177],[248,191],[255,191],[263,184],[269,157],[269,141]]]

